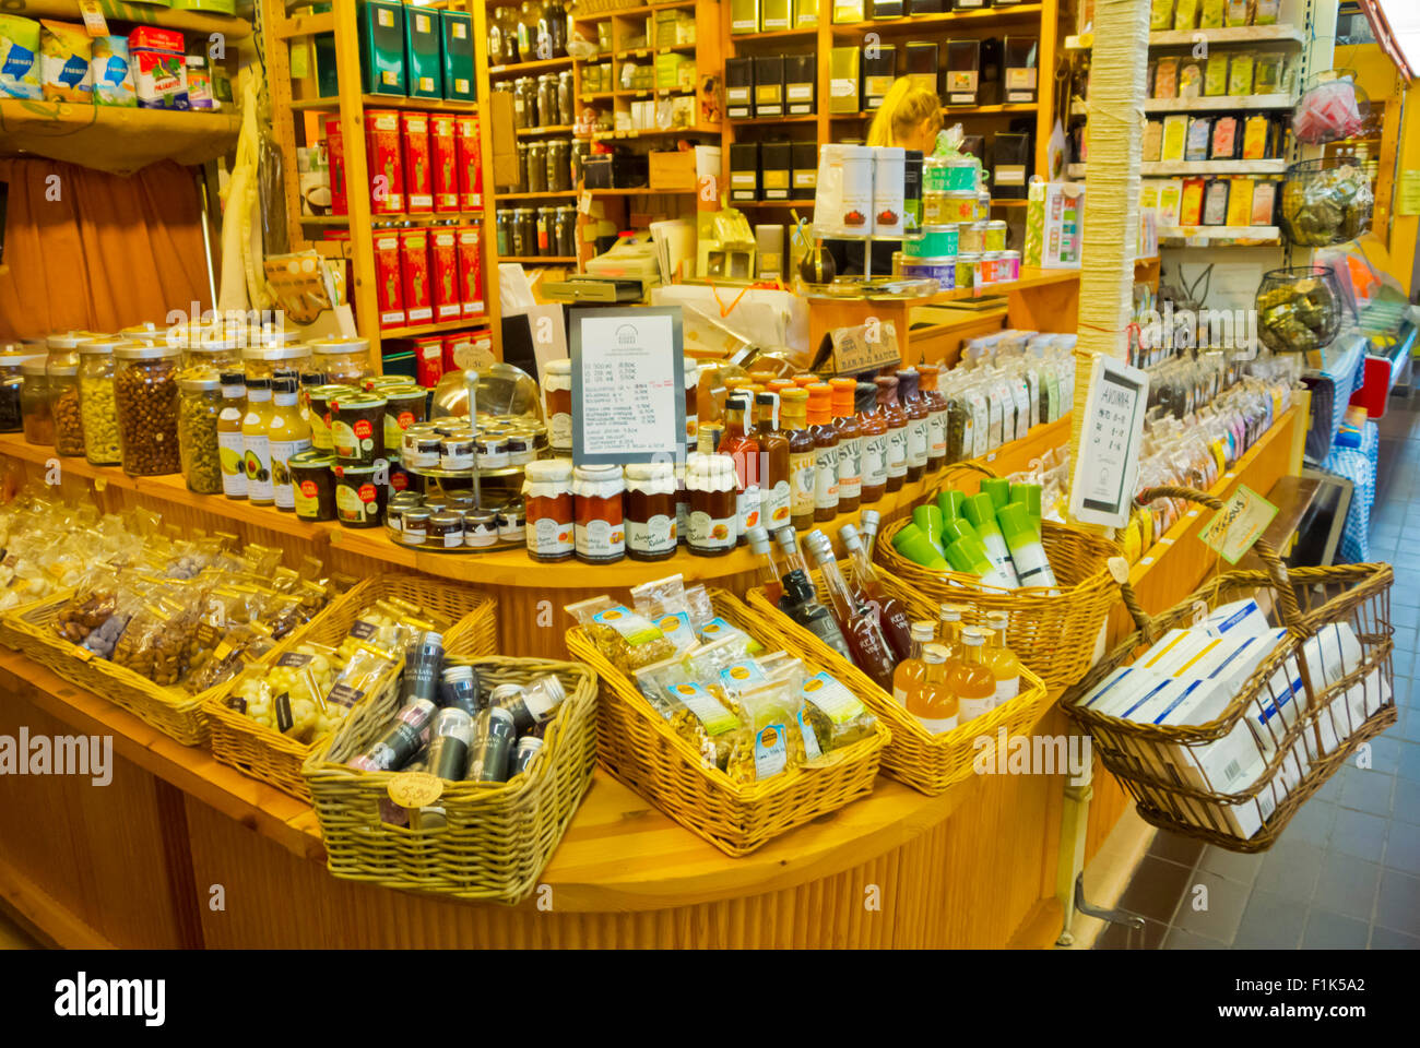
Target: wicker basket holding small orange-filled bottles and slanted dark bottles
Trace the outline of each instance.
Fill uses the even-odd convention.
[[[839,567],[845,575],[852,574],[851,562],[842,561]],[[824,586],[822,574],[815,569],[812,578],[818,589],[818,599],[828,606],[828,591]],[[939,609],[934,604],[886,571],[879,569],[878,578],[888,595],[896,596],[905,606],[909,619],[937,621]],[[977,747],[978,738],[995,740],[1003,728],[1008,738],[1028,731],[1049,709],[1051,694],[1045,684],[1022,666],[1021,690],[1015,699],[976,717],[954,731],[934,736],[923,728],[893,696],[873,683],[866,673],[781,612],[764,589],[751,589],[748,599],[750,606],[780,632],[785,646],[801,659],[829,667],[834,676],[852,689],[853,694],[888,724],[892,730],[892,741],[883,750],[883,773],[920,792],[940,794],[970,778],[976,760],[983,753],[995,753],[990,747],[984,750]],[[967,625],[984,625],[984,621]]]

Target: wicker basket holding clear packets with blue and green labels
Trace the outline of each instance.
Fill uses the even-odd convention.
[[[710,591],[714,611],[777,650],[782,636],[736,596]],[[748,855],[780,834],[842,808],[873,788],[890,734],[876,731],[815,761],[763,782],[737,784],[707,770],[686,740],[646,702],[636,684],[588,639],[581,626],[567,632],[567,648],[602,679],[598,704],[602,767],[646,797],[666,815],[726,855]]]

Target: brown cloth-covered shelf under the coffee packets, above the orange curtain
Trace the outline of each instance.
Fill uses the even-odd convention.
[[[158,9],[160,10],[160,9]],[[159,160],[206,163],[236,146],[241,115],[0,98],[0,153],[132,175]]]

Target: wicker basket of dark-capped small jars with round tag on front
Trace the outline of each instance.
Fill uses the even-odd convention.
[[[385,822],[382,802],[396,773],[345,765],[398,710],[398,689],[362,706],[321,740],[302,768],[334,876],[413,892],[517,903],[537,886],[562,839],[596,763],[596,677],[579,663],[477,657],[449,649],[488,684],[528,683],[555,673],[567,690],[527,773],[507,784],[444,782],[447,825],[410,829]]]

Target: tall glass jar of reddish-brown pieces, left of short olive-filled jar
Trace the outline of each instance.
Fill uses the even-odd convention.
[[[126,342],[114,349],[118,372],[118,447],[124,473],[178,473],[178,346]]]

